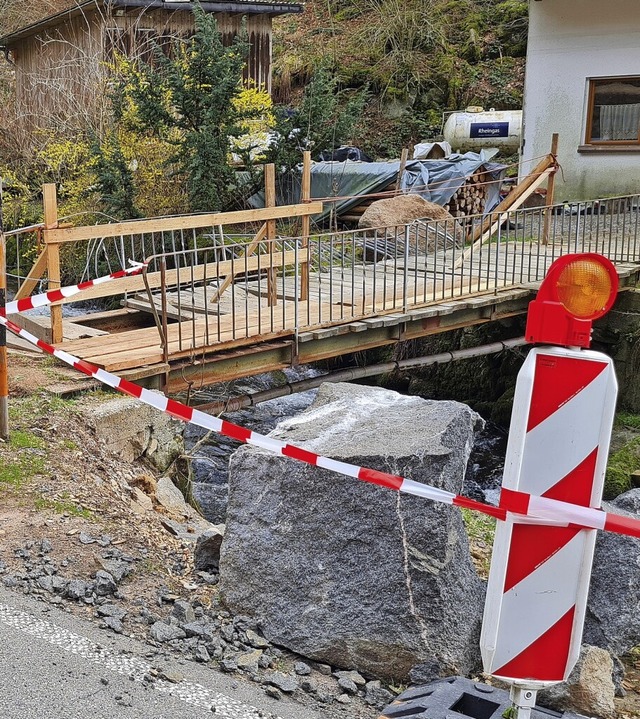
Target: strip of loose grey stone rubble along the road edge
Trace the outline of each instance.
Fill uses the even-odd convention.
[[[86,544],[80,536],[76,539],[79,547],[95,545],[95,542]],[[394,694],[380,681],[367,681],[357,671],[334,671],[327,664],[303,660],[272,645],[248,617],[233,617],[227,611],[210,609],[198,601],[169,593],[159,594],[154,607],[143,602],[136,606],[125,604],[120,584],[135,574],[140,557],[109,546],[102,550],[97,566],[111,563],[124,571],[110,573],[96,569],[94,576],[87,580],[64,576],[66,568],[60,566],[62,562],[51,559],[51,551],[48,539],[15,548],[13,553],[21,560],[22,570],[8,571],[6,562],[0,560],[0,581],[6,587],[52,604],[90,607],[100,625],[117,634],[134,636],[142,630],[154,647],[150,656],[158,662],[158,667],[145,677],[146,682],[159,679],[180,682],[188,678],[167,675],[161,664],[169,651],[223,672],[244,676],[260,684],[270,697],[282,699],[286,695],[319,710],[333,705],[343,714],[347,709],[360,707],[359,711],[365,713],[348,716],[368,717],[372,708],[380,709],[393,699]],[[128,706],[129,698],[125,694],[115,700],[120,706]]]

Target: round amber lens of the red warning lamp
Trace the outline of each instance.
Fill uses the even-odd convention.
[[[560,273],[558,299],[578,319],[595,319],[606,310],[613,291],[607,269],[594,260],[577,260]]]

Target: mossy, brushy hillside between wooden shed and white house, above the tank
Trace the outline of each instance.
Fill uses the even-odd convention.
[[[522,106],[526,0],[308,0],[275,23],[274,100],[318,66],[369,92],[354,143],[374,157],[440,133],[442,113]]]

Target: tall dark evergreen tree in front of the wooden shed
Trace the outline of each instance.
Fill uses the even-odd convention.
[[[199,4],[194,15],[195,34],[176,41],[171,57],[157,46],[153,63],[125,64],[124,74],[114,82],[113,106],[116,122],[133,122],[140,132],[151,132],[175,147],[168,165],[186,178],[191,211],[211,212],[226,209],[234,199],[230,138],[241,133],[242,118],[232,100],[249,46],[238,36],[225,47],[215,17]],[[107,184],[118,170],[109,162],[103,165]]]

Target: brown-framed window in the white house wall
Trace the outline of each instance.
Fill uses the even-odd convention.
[[[587,145],[640,145],[640,77],[589,83]]]

